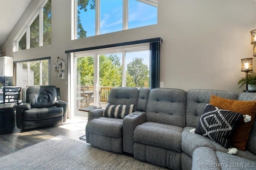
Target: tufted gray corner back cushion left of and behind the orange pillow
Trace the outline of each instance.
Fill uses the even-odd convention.
[[[212,95],[226,99],[238,99],[238,93],[224,90],[192,89],[187,92],[186,126],[197,127],[204,107],[209,104]]]

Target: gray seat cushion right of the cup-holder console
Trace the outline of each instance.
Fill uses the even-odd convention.
[[[182,131],[182,127],[156,122],[146,122],[135,128],[134,142],[182,152]]]

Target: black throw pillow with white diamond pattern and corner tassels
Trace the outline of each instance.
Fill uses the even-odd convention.
[[[216,141],[222,147],[229,148],[230,138],[242,119],[241,113],[207,104],[195,132]]]

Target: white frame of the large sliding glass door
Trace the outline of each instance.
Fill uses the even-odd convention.
[[[80,57],[93,57],[94,59],[94,106],[98,106],[99,104],[99,87],[101,87],[100,84],[100,75],[99,75],[99,64],[100,64],[100,55],[114,55],[114,54],[120,54],[122,53],[122,85],[121,87],[126,87],[126,53],[131,53],[131,52],[139,52],[139,51],[150,51],[150,43],[143,43],[143,44],[136,44],[136,45],[127,45],[127,46],[121,46],[121,47],[113,47],[113,48],[107,48],[107,49],[94,49],[94,50],[89,50],[89,51],[79,51],[79,52],[74,52],[70,55],[69,57],[69,63],[70,63],[70,78],[72,78],[72,81],[69,81],[70,83],[70,90],[69,91],[69,98],[72,98],[74,100],[72,101],[77,101],[76,96],[74,93],[74,90],[76,88],[72,87],[77,87],[77,72],[76,72],[76,64],[77,64],[77,58]],[[148,56],[150,58],[150,56]],[[151,64],[151,63],[150,63]],[[71,68],[72,65],[72,68]],[[148,67],[149,71],[151,67]],[[149,74],[150,76],[150,74]],[[149,78],[150,79],[150,78]],[[149,88],[149,87],[148,87]],[[77,103],[72,103],[69,105],[71,114],[69,115],[70,117],[78,116],[75,115],[74,111],[77,106]]]

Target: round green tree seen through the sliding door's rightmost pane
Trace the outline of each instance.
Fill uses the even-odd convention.
[[[130,63],[127,64],[127,72],[132,77],[135,87],[144,87],[144,82],[149,82],[149,69],[148,65],[143,63],[144,59],[134,58]],[[127,75],[128,75],[127,74]],[[126,84],[132,83],[127,79],[129,76],[126,75]]]

